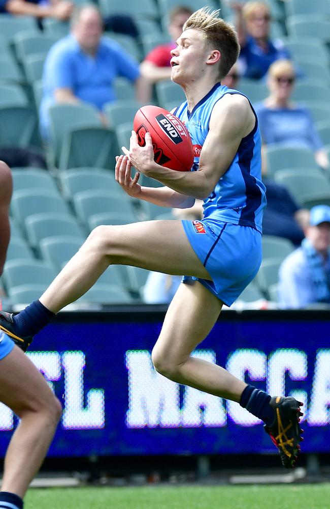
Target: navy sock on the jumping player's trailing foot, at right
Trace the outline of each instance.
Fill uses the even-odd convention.
[[[271,397],[267,392],[247,385],[242,392],[240,405],[263,420],[267,426],[271,426],[274,421],[274,410],[269,404],[270,401]]]

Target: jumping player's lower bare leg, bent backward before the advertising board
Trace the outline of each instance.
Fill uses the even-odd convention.
[[[216,364],[190,356],[211,331],[221,307],[222,302],[200,282],[181,284],[152,351],[152,361],[159,373],[175,382],[239,402],[246,383]]]

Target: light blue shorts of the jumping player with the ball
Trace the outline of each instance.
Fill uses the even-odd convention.
[[[191,247],[212,281],[184,276],[182,281],[200,281],[224,304],[230,306],[259,270],[261,234],[254,228],[208,219],[182,221]]]

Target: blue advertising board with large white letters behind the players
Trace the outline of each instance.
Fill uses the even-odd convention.
[[[63,405],[50,457],[273,453],[262,423],[237,403],[156,373],[163,310],[63,312],[28,356]],[[193,355],[272,395],[304,402],[305,453],[330,452],[326,312],[223,312]],[[0,408],[0,454],[17,424]]]

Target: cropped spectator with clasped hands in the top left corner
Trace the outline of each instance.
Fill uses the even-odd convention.
[[[73,10],[73,2],[68,0],[0,0],[0,13],[15,16],[34,16],[38,20],[43,18],[56,18],[67,20]]]

